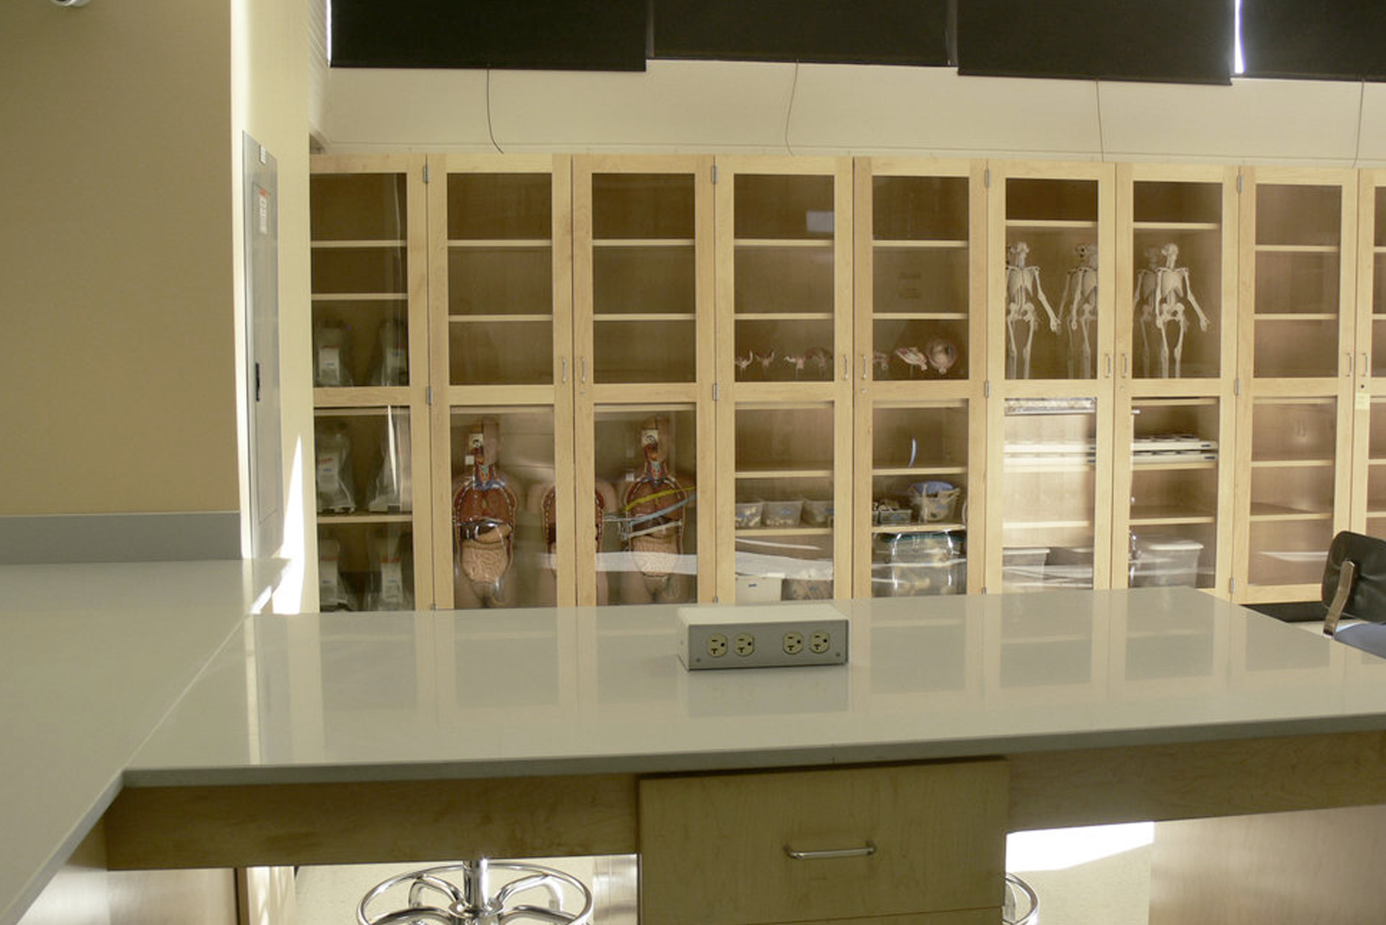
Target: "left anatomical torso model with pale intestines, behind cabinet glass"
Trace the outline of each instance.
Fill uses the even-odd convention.
[[[510,479],[496,467],[500,425],[492,418],[475,422],[467,451],[471,468],[452,483],[453,604],[506,607],[518,503]]]

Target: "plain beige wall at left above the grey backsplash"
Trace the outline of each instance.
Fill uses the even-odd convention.
[[[0,514],[237,508],[229,8],[0,3]]]

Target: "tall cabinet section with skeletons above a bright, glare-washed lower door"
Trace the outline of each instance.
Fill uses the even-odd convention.
[[[1109,583],[1114,186],[1103,163],[991,166],[990,590]]]

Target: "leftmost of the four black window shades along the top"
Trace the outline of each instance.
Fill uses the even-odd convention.
[[[333,66],[643,71],[647,0],[331,0]]]

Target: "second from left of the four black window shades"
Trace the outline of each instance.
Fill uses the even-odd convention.
[[[656,58],[947,65],[949,0],[653,0]]]

